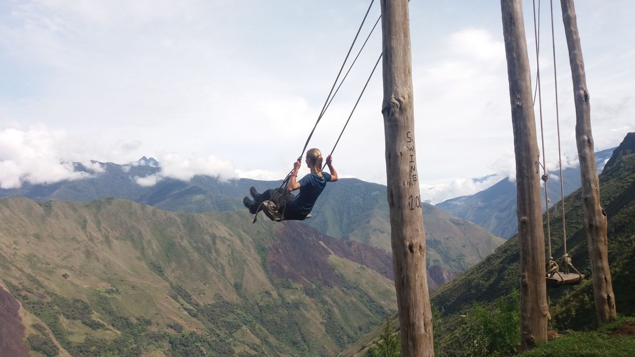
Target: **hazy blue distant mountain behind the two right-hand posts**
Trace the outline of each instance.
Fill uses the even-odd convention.
[[[596,152],[596,167],[601,172],[608,158],[615,150],[606,149]],[[549,193],[549,206],[560,201],[559,172],[550,172],[551,179],[547,180],[547,192]],[[581,185],[580,167],[563,169],[564,194],[568,196]],[[544,211],[544,188],[541,198]],[[509,239],[518,232],[518,220],[516,219],[516,182],[511,182],[509,177],[500,180],[488,189],[472,194],[448,199],[436,206],[450,212],[456,217],[474,222],[488,231],[505,239]]]

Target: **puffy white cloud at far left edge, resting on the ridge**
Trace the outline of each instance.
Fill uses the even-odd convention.
[[[24,182],[50,184],[62,180],[90,177],[76,172],[72,161],[64,155],[64,131],[51,131],[45,126],[26,131],[5,128],[0,131],[0,187],[12,189]],[[98,163],[84,161],[92,173],[102,173]]]

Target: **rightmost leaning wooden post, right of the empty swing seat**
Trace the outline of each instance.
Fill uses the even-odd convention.
[[[598,323],[602,325],[617,315],[615,295],[608,267],[608,238],[606,236],[606,212],[600,205],[598,170],[595,166],[593,135],[591,133],[591,104],[582,60],[582,46],[578,34],[573,0],[561,0],[562,18],[565,23],[566,44],[569,48],[569,64],[573,77],[575,102],[575,138],[580,158],[582,177],[582,207],[587,246],[591,260],[593,297]]]

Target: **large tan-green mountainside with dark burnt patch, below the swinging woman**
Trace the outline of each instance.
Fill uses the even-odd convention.
[[[396,309],[384,250],[121,199],[0,199],[0,271],[12,357],[334,356]]]

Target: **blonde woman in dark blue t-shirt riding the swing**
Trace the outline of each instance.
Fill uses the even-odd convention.
[[[287,190],[291,192],[300,189],[300,193],[298,196],[289,193],[289,198],[284,207],[278,207],[278,212],[284,212],[284,219],[302,220],[311,213],[316,200],[322,193],[324,187],[326,187],[326,182],[337,181],[337,172],[335,168],[333,168],[332,161],[329,155],[326,158],[326,165],[328,166],[330,174],[322,172],[322,153],[318,149],[309,149],[305,163],[311,169],[311,173],[305,175],[305,177],[302,177],[299,181],[297,181],[298,170],[300,170],[302,163],[300,163],[300,159],[293,163],[293,172],[291,172]],[[283,189],[281,188],[280,190]],[[262,210],[262,203],[264,201],[274,201],[277,205],[277,201],[283,192],[278,192],[276,189],[269,189],[260,194],[256,191],[256,188],[252,186],[249,189],[249,193],[253,199],[244,196],[243,205],[249,208],[251,214],[255,214]]]

